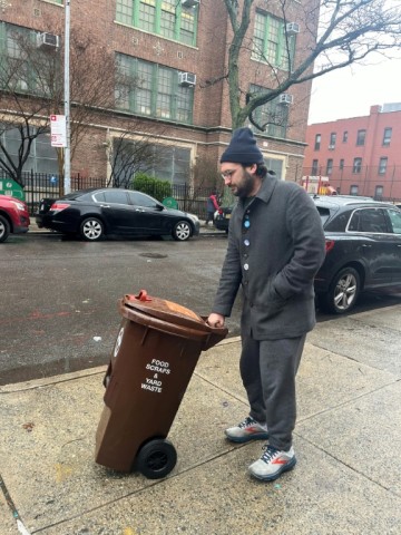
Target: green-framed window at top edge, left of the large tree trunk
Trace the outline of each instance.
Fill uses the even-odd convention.
[[[177,0],[117,0],[116,20],[150,33],[196,45],[198,7]]]

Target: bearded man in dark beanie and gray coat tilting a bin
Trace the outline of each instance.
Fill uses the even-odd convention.
[[[295,374],[315,324],[313,279],[325,254],[324,233],[307,193],[267,173],[250,128],[234,133],[221,171],[239,200],[207,321],[223,327],[242,286],[239,370],[251,410],[225,434],[234,442],[268,438],[250,473],[270,481],[296,463]]]

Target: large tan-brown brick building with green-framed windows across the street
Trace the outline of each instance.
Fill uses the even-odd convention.
[[[276,68],[285,69],[280,6],[266,7],[265,1],[256,0],[255,7],[248,42],[257,40],[265,55],[272,58],[273,54],[271,61]],[[300,22],[294,25],[291,37],[295,65],[302,61],[297,50],[307,49],[309,40],[313,39],[310,32],[313,22],[307,31],[302,31],[302,13],[301,4],[294,1],[291,16]],[[63,21],[62,0],[3,2],[0,54],[6,57],[20,54],[14,36],[29,33],[36,42],[40,41],[41,48],[47,48],[47,54],[53,47],[52,54],[60,55],[62,68]],[[76,0],[70,2],[70,27],[75,35],[96,43],[100,59],[114,58],[127,80],[140,80],[139,86],[126,90],[118,106],[92,110],[90,128],[74,152],[72,174],[101,177],[106,182],[110,175],[110,152],[121,133],[130,143],[154,138],[154,149],[163,148],[162,160],[148,169],[159,178],[193,184],[196,163],[215,162],[217,168],[218,157],[231,138],[232,124],[226,80],[211,82],[226,71],[232,36],[222,0]],[[257,58],[255,48],[244,49],[241,65],[242,87],[268,89],[266,80],[272,79],[272,68]],[[98,74],[100,77],[106,74],[101,60]],[[20,89],[30,93],[27,87]],[[120,89],[105,88],[110,96]],[[268,166],[283,179],[295,179],[302,168],[310,89],[310,82],[295,85],[288,90],[288,101],[293,104],[276,99],[258,109],[263,114],[274,107],[285,118],[280,127],[271,125],[265,133],[257,134]],[[0,123],[17,120],[1,91],[0,114]],[[12,147],[16,143],[12,132],[0,132],[6,146]],[[35,140],[25,169],[57,173],[49,135]]]

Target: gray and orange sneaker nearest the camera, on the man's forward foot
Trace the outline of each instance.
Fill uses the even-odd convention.
[[[280,449],[266,445],[263,449],[262,457],[250,466],[250,473],[256,479],[274,481],[283,471],[294,468],[296,458],[293,447],[288,451],[280,451]]]

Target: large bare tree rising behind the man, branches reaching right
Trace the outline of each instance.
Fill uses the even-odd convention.
[[[296,6],[291,0],[265,0],[263,6],[254,0],[224,0],[224,3],[233,32],[227,71],[209,84],[227,80],[233,129],[251,118],[263,130],[266,124],[258,124],[254,111],[290,87],[363,62],[374,54],[385,55],[401,48],[401,10],[392,0],[306,0]],[[257,39],[251,36],[255,3],[258,8],[271,8],[284,22],[285,68],[273,65]],[[300,30],[304,33],[304,45],[296,46],[295,56],[292,54],[293,29],[288,26],[293,22],[294,9],[297,13],[303,10]],[[242,76],[242,56],[251,54],[267,67],[266,91],[250,91],[248,79]],[[315,70],[314,65],[319,65]],[[282,118],[272,116],[268,120],[280,124]]]

